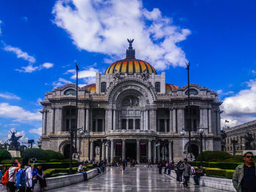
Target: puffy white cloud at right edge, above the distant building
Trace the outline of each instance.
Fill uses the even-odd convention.
[[[246,85],[246,89],[224,99],[222,126],[225,126],[225,119],[230,121],[227,123],[230,127],[256,119],[256,80],[249,80]]]

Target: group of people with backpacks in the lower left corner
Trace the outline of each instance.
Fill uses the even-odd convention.
[[[41,191],[47,187],[45,174],[42,166],[37,167],[32,164],[30,159],[23,158],[22,164],[16,159],[10,167],[2,167],[0,171],[2,185],[7,185],[10,192],[30,192],[33,191],[34,185],[39,181]]]

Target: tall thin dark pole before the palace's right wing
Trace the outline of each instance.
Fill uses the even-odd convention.
[[[189,68],[190,68],[190,63],[186,63],[187,65],[187,115],[188,115],[188,123],[187,123],[187,131],[189,131],[189,146],[187,148],[188,153],[187,153],[187,158],[192,158],[191,155],[191,147],[190,147],[190,142],[191,142],[191,122],[190,122],[190,85],[189,85]]]

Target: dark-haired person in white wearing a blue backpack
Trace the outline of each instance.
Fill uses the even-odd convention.
[[[31,192],[32,189],[32,169],[31,166],[29,166],[30,160],[29,158],[23,158],[22,166],[23,169],[25,169],[25,180],[26,180],[26,188],[22,188],[21,191]]]

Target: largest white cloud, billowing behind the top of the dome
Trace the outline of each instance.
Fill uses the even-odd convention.
[[[187,61],[176,44],[187,39],[189,29],[175,26],[157,8],[148,11],[140,0],[59,0],[53,15],[53,22],[67,31],[78,49],[124,58],[126,39],[134,38],[137,58],[159,70],[185,66]]]

